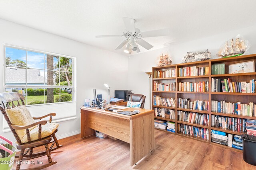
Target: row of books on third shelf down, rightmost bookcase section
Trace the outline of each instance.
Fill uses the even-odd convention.
[[[241,104],[241,102],[225,102],[212,100],[212,112],[227,113],[234,115],[245,115],[256,117],[256,104]]]

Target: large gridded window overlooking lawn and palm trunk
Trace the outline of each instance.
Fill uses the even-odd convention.
[[[26,96],[26,105],[72,102],[74,59],[5,46],[5,91]]]

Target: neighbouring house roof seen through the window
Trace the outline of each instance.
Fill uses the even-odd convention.
[[[21,83],[26,82],[26,69],[25,68],[6,68],[6,83]],[[47,83],[47,78],[40,74],[40,70],[27,69],[27,82],[28,83]]]

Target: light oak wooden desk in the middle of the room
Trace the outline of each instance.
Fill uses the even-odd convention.
[[[81,138],[100,131],[124,142],[130,143],[131,166],[154,150],[154,111],[128,108],[127,111],[140,110],[132,116],[102,111],[90,107],[81,108]]]

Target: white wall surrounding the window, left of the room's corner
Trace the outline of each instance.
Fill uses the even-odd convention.
[[[110,86],[111,97],[115,89],[127,88],[127,57],[0,19],[0,92],[4,92],[4,43],[76,57],[77,118],[60,122],[59,137],[80,133],[80,106],[85,98],[93,99],[93,88],[103,98],[107,98],[104,83]],[[2,122],[0,113],[0,135],[15,141],[11,132],[3,133]]]

